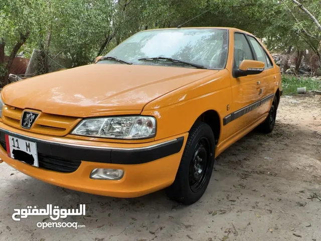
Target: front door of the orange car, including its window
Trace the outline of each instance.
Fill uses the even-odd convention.
[[[246,34],[234,33],[234,66],[238,69],[245,59],[255,60]],[[229,123],[232,135],[237,135],[239,131],[255,122],[260,114],[257,107],[260,105],[260,81],[262,74],[248,75],[231,78],[232,105],[231,114],[226,116],[225,124]]]

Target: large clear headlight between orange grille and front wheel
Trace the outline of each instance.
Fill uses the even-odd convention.
[[[117,116],[84,119],[71,134],[114,139],[142,139],[152,138],[155,133],[154,117]]]

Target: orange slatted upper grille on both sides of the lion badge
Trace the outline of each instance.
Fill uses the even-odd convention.
[[[20,121],[23,111],[24,109],[5,105],[2,113],[3,122],[11,127],[22,129]],[[32,128],[30,130],[23,129],[24,131],[52,136],[66,136],[81,121],[81,118],[78,117],[39,113],[40,115]]]

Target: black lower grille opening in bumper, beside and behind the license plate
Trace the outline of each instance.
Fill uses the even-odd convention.
[[[0,145],[7,152],[6,142],[0,141]],[[39,168],[55,172],[71,173],[78,169],[81,161],[66,160],[60,157],[44,155],[38,152]]]

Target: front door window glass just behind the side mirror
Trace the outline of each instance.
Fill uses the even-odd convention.
[[[238,69],[244,59],[253,60],[251,48],[244,34],[234,34],[234,68]]]

